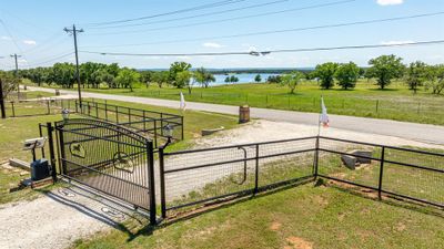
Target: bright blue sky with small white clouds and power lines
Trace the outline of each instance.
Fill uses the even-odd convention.
[[[435,14],[305,29],[430,13]],[[83,29],[78,34],[80,63],[164,69],[174,61],[185,61],[193,68],[230,69],[311,68],[327,61],[353,61],[365,66],[370,59],[392,53],[404,58],[404,63],[444,63],[444,43],[263,56],[84,52],[219,53],[444,40],[444,0],[0,0],[0,70],[14,68],[10,58],[14,53],[21,55],[20,69],[73,63],[73,37],[63,31],[73,24]],[[279,30],[293,31],[271,32]]]

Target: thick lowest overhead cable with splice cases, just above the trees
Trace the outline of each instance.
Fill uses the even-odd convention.
[[[332,50],[359,50],[359,49],[377,49],[392,46],[408,45],[433,45],[443,44],[444,40],[403,42],[397,44],[366,44],[366,45],[345,45],[345,46],[324,46],[324,48],[304,48],[304,49],[280,49],[266,51],[250,52],[214,52],[214,53],[117,53],[117,52],[98,52],[98,51],[79,51],[81,53],[114,55],[114,56],[222,56],[222,55],[268,55],[270,53],[295,53],[295,52],[314,52],[314,51],[332,51]]]

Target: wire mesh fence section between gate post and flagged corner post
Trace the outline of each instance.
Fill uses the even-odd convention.
[[[165,210],[258,193],[313,176],[315,137],[161,152]],[[164,155],[164,156],[162,156]],[[162,189],[161,189],[162,190]]]

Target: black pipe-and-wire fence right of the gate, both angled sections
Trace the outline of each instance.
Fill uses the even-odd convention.
[[[159,154],[163,217],[315,177],[444,207],[444,154],[436,152],[321,136]],[[351,169],[344,156],[363,163]]]

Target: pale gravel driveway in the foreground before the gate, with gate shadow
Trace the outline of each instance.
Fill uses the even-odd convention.
[[[118,214],[104,212],[108,210]],[[56,189],[32,201],[0,207],[0,248],[67,248],[77,239],[115,227],[130,216],[128,209],[80,188]]]

